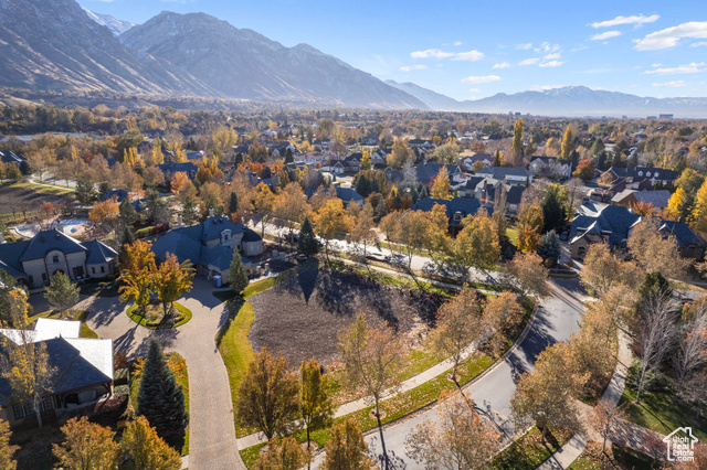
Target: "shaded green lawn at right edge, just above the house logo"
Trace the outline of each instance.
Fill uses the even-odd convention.
[[[667,391],[641,394],[641,404],[635,404],[635,393],[626,387],[620,404],[629,403],[626,419],[663,435],[673,432],[680,426],[690,426],[699,440],[707,439],[707,420],[679,403]]]

